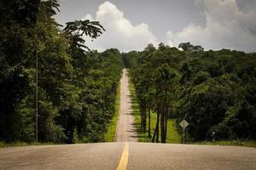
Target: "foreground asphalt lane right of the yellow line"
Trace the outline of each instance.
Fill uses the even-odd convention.
[[[128,170],[255,170],[256,149],[196,144],[130,144]]]

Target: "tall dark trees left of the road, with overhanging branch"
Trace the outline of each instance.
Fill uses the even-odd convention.
[[[58,7],[56,0],[0,3],[0,141],[35,141],[37,105],[39,142],[102,141],[113,116],[119,50],[89,51],[83,36],[104,28],[76,20],[61,29],[52,18]]]

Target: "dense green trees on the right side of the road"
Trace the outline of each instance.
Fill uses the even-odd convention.
[[[170,48],[149,44],[123,54],[136,88],[141,130],[152,142],[166,142],[167,119],[189,122],[186,139],[256,139],[256,54],[222,49],[204,51],[189,42]],[[177,129],[182,133],[181,127]]]

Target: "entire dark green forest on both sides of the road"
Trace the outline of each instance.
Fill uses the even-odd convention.
[[[150,138],[147,123],[157,115],[152,142],[166,143],[168,119],[179,133],[178,122],[189,122],[190,142],[256,139],[255,53],[189,42],[100,53],[84,37],[100,37],[104,27],[91,20],[61,26],[53,18],[59,6],[0,2],[0,141],[103,141],[124,67],[136,89],[141,131]]]

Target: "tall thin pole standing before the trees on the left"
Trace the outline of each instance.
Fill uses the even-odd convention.
[[[36,48],[36,142],[38,143],[38,46]]]

